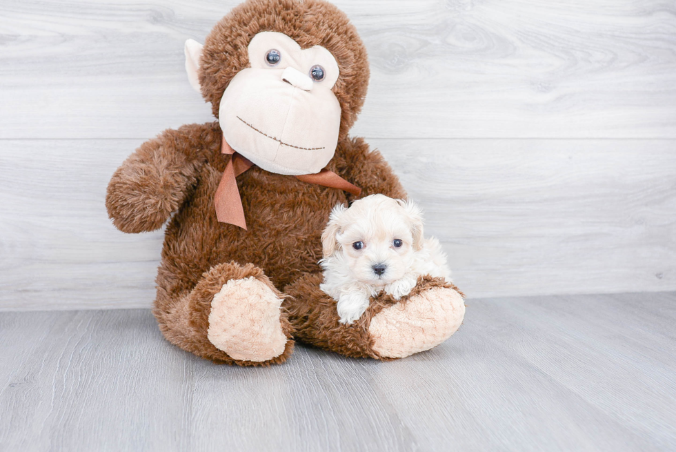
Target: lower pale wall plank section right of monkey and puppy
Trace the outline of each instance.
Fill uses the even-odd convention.
[[[470,297],[676,289],[676,141],[370,142]]]

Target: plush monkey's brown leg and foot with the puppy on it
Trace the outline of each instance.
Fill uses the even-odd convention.
[[[429,350],[453,335],[465,304],[453,284],[419,277],[397,300],[381,293],[352,324],[340,322],[334,299],[319,288],[321,273],[306,273],[284,288],[284,307],[297,340],[351,357],[401,358]]]

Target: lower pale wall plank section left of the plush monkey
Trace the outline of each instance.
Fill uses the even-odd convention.
[[[0,141],[0,308],[148,307],[163,233],[126,235],[106,186],[134,140]]]

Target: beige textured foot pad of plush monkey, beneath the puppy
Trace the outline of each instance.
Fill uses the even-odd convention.
[[[375,315],[368,327],[381,356],[401,358],[429,350],[462,323],[465,304],[452,288],[433,287]]]

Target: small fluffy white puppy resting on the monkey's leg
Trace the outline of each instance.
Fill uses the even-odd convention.
[[[321,234],[324,283],[335,299],[340,322],[355,322],[370,297],[385,291],[408,295],[421,275],[450,282],[446,255],[434,237],[423,237],[421,210],[410,201],[370,195],[350,208],[335,206]]]

